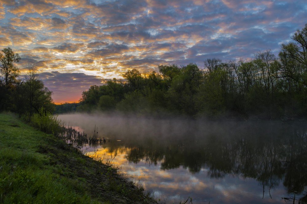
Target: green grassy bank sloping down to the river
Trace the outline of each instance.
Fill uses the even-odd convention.
[[[115,168],[0,114],[0,203],[151,203]]]

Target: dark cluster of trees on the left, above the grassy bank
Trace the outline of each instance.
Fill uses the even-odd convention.
[[[30,120],[41,108],[45,111],[54,110],[52,92],[45,87],[37,74],[37,69],[31,67],[24,77],[15,66],[20,56],[10,47],[0,52],[0,111],[12,111]]]

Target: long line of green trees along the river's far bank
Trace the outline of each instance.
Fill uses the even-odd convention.
[[[124,79],[93,85],[77,111],[124,111],[150,115],[289,119],[307,115],[307,24],[282,44],[253,59],[206,59],[204,68],[160,65],[159,72],[136,69]]]

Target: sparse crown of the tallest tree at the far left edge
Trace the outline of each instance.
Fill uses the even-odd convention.
[[[10,47],[3,48],[1,51],[3,52],[0,52],[1,75],[4,77],[4,85],[8,88],[19,76],[20,71],[14,63],[19,62],[20,57]]]

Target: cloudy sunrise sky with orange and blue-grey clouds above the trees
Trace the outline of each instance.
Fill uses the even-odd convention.
[[[0,0],[0,49],[59,104],[133,68],[278,55],[306,23],[306,0]]]

